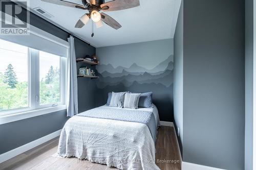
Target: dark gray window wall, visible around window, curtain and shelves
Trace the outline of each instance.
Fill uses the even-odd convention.
[[[70,35],[33,13],[30,13],[30,24],[66,41]],[[78,38],[75,38],[75,51],[77,58],[95,54],[93,46]],[[91,79],[78,79],[79,112],[95,106],[95,88],[95,82]],[[62,129],[67,120],[67,112],[59,111],[0,125],[0,154]]]

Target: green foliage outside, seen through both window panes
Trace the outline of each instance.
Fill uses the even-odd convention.
[[[7,75],[0,72],[0,111],[28,107],[28,82],[18,82],[16,79],[9,79]],[[16,78],[15,72],[13,75]],[[51,66],[46,78],[39,82],[40,105],[60,102],[59,77],[59,69]],[[12,84],[15,86],[11,86],[7,80],[16,80]]]

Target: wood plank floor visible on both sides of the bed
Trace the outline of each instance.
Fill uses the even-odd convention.
[[[52,157],[57,152],[58,137],[38,147],[20,154],[0,164],[0,169],[40,170],[40,169],[65,169],[65,170],[114,170],[117,168],[108,167],[87,160],[77,158],[56,158]],[[179,161],[178,145],[176,142],[173,127],[162,126],[159,128],[156,141],[156,164],[162,170],[181,170]],[[165,162],[164,162],[165,161]],[[169,163],[167,163],[169,161]]]

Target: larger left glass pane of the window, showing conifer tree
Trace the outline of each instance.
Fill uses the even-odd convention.
[[[28,47],[0,39],[0,111],[29,107]]]

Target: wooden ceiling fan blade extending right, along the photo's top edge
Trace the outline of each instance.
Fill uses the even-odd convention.
[[[109,9],[104,9],[103,7],[105,6],[108,6]],[[113,0],[100,5],[100,7],[103,8],[103,11],[117,11],[138,6],[140,6],[139,0]]]

